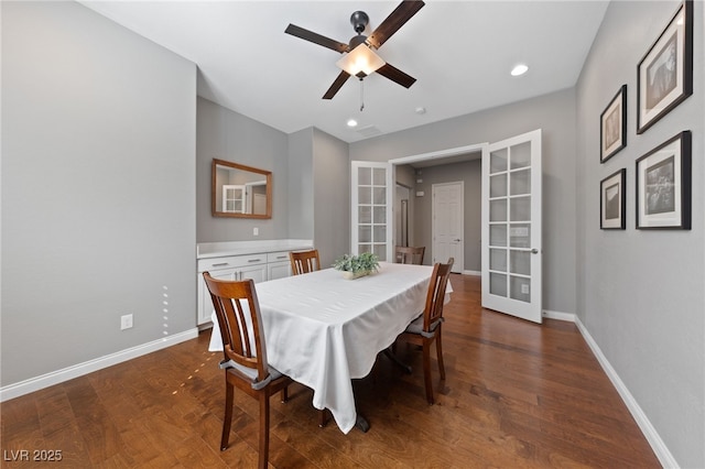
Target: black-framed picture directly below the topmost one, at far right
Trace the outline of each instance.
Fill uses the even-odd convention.
[[[691,132],[637,160],[637,229],[691,229]]]

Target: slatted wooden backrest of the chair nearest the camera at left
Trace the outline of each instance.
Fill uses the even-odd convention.
[[[217,280],[208,272],[203,276],[218,318],[225,360],[257,370],[258,381],[264,380],[269,367],[254,282]]]

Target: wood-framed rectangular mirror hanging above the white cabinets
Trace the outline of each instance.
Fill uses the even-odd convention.
[[[214,159],[210,211],[214,217],[272,218],[272,172]]]

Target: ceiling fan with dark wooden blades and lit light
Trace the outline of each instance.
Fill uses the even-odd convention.
[[[326,94],[323,95],[323,99],[332,99],[350,76],[355,75],[362,80],[362,78],[373,72],[398,83],[404,88],[409,88],[416,79],[391,64],[386,63],[375,51],[381,47],[382,44],[416,14],[424,4],[423,1],[402,1],[369,36],[362,34],[370,21],[369,17],[364,11],[354,12],[350,15],[350,24],[352,24],[357,35],[352,36],[348,44],[332,40],[294,24],[290,24],[284,32],[332,48],[340,54],[346,54],[336,63],[343,72],[340,72],[335,81],[333,81],[333,85],[330,85]]]

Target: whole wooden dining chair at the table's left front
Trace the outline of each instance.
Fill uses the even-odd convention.
[[[251,279],[245,281],[216,280],[203,273],[213,299],[223,337],[225,369],[225,419],[220,450],[228,448],[235,388],[260,403],[259,463],[267,468],[269,457],[269,399],[281,391],[282,402],[288,399],[291,378],[283,375],[267,362],[267,347],[262,331],[260,305]]]

